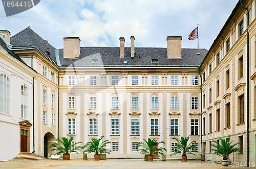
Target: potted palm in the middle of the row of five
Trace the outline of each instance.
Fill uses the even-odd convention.
[[[153,154],[156,154],[156,153],[159,153],[161,155],[164,155],[163,154],[163,150],[166,151],[165,148],[158,148],[156,145],[160,144],[160,143],[163,143],[165,144],[164,141],[159,141],[157,142],[157,139],[153,138],[148,138],[147,140],[143,139],[145,142],[139,142],[138,143],[138,148],[139,148],[139,151],[140,151],[140,154],[148,154],[147,156],[147,159],[148,161],[153,161]]]

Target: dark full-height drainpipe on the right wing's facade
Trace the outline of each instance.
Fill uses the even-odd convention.
[[[249,167],[249,9],[246,8],[243,5],[243,0],[239,0],[241,7],[247,11],[247,81],[246,81],[246,87],[247,87],[247,164],[246,167]]]

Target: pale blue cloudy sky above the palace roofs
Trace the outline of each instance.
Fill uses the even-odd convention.
[[[199,48],[209,49],[238,0],[41,0],[33,8],[6,17],[0,5],[0,29],[11,36],[28,26],[57,49],[63,37],[80,46],[119,46],[135,37],[136,47],[166,47],[167,36],[182,36],[182,48],[197,48],[188,35],[199,24]]]

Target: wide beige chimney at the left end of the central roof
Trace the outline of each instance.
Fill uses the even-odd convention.
[[[63,58],[78,58],[80,55],[80,38],[63,38]]]

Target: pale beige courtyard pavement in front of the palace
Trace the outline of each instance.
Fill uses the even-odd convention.
[[[47,159],[37,161],[3,161],[0,162],[0,168],[245,168],[236,166],[221,166],[221,164],[212,161],[188,160],[186,163],[181,161],[144,161],[143,159],[107,159],[94,161],[94,159],[82,160],[81,158],[72,158],[71,160]]]

